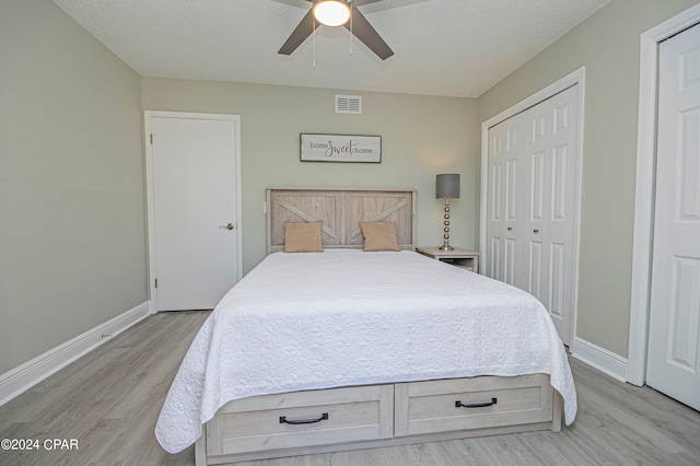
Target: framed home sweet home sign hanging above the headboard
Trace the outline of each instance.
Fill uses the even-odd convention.
[[[382,162],[381,136],[301,135],[302,162]]]

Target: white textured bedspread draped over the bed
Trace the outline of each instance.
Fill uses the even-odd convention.
[[[412,252],[268,256],[195,337],[155,436],[177,453],[230,400],[475,375],[550,374],[576,394],[557,330],[528,293]]]

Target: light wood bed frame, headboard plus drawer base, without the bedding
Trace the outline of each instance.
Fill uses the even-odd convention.
[[[416,247],[410,189],[268,189],[268,254],[284,222],[322,220],[326,248],[361,248],[360,222],[395,222]],[[534,430],[561,430],[547,374],[338,387],[236,399],[203,426],[198,466]]]

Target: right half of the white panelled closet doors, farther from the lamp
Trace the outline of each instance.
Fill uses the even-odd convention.
[[[520,196],[526,248],[520,287],[547,307],[564,345],[575,305],[578,92],[574,85],[525,113],[529,137]]]

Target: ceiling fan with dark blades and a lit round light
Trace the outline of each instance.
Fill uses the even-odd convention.
[[[384,42],[382,36],[372,27],[372,24],[364,18],[364,15],[358,10],[358,7],[362,7],[364,4],[376,3],[382,0],[351,0],[347,2],[336,1],[336,0],[306,0],[310,3],[314,3],[314,7],[308,10],[308,13],[302,19],[301,23],[296,26],[296,28],[289,36],[282,48],[279,49],[278,54],[281,55],[292,55],[296,48],[302,45],[306,37],[308,37],[316,27],[320,24],[326,25],[345,25],[348,31],[350,31],[357,38],[362,40],[364,45],[366,45],[370,50],[374,51],[377,57],[382,60],[386,60],[394,51],[389,48],[388,45]],[[337,23],[326,23],[324,21],[318,20],[319,10],[323,10],[324,7],[329,8],[338,8],[338,10],[345,9],[346,11],[341,11],[345,15],[345,22],[342,19],[338,20]],[[316,13],[316,16],[314,14]],[[314,19],[316,18],[316,21]],[[350,20],[350,21],[348,21]],[[320,24],[319,24],[320,23]]]

